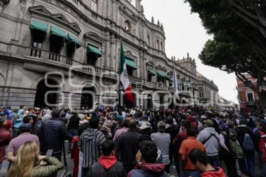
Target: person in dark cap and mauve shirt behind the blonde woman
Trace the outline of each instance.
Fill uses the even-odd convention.
[[[32,125],[30,123],[23,124],[21,126],[20,135],[18,137],[12,139],[8,145],[7,149],[7,159],[10,162],[13,162],[16,154],[18,153],[19,147],[28,141],[34,141],[37,143],[38,148],[40,148],[40,142],[38,136],[34,134],[30,134],[32,130]]]

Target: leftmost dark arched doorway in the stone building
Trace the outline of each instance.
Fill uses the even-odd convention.
[[[57,85],[57,83],[52,79],[47,79],[49,85]],[[45,103],[45,93],[48,91],[57,91],[56,87],[49,87],[45,84],[45,79],[41,80],[37,85],[37,91],[35,94],[34,107],[51,107],[49,105],[56,104],[56,93],[50,93],[47,95],[47,103]]]

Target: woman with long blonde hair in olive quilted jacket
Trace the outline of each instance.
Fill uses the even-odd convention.
[[[18,149],[7,177],[46,177],[62,168],[58,159],[39,155],[38,145],[28,141]]]

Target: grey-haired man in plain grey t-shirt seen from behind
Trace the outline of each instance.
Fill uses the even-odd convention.
[[[151,140],[161,150],[162,163],[165,165],[166,173],[170,173],[169,146],[171,143],[170,134],[165,133],[165,123],[163,121],[157,124],[157,133],[151,134]]]

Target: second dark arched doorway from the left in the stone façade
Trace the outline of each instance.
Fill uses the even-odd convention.
[[[95,103],[96,90],[94,87],[83,87],[81,92],[80,107],[91,109]]]

